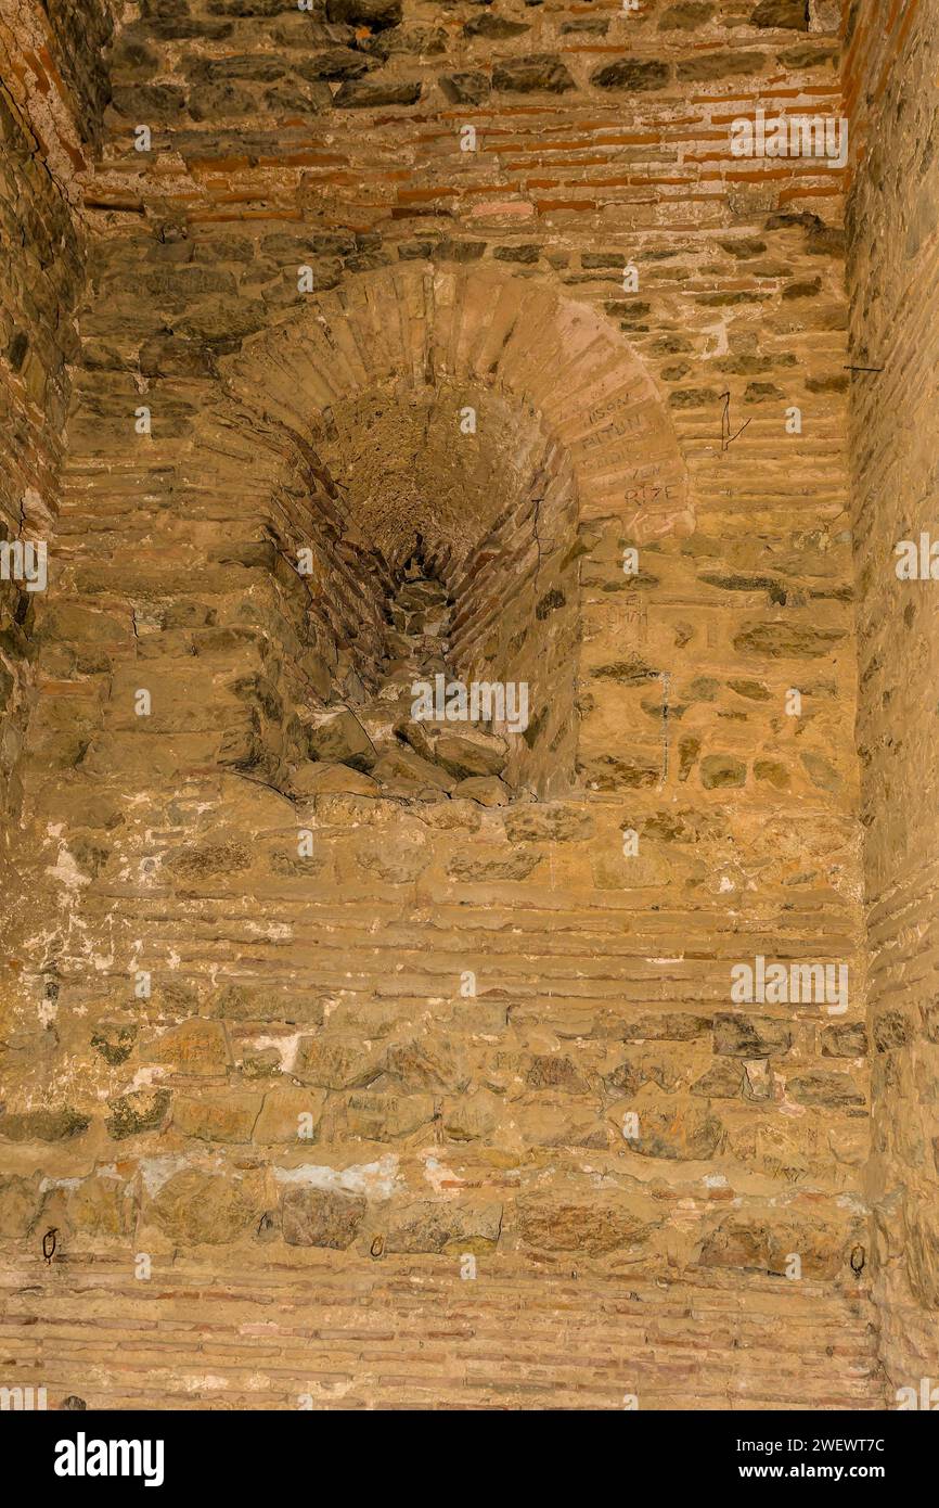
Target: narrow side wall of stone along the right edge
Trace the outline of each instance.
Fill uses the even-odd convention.
[[[849,100],[861,819],[871,947],[877,1297],[898,1387],[936,1368],[936,273],[939,26],[928,5],[853,6]],[[919,570],[921,541],[925,579]],[[918,561],[909,567],[915,544]]]

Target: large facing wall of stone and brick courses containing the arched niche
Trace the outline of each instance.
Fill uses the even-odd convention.
[[[473,1258],[484,1330],[571,1273],[861,1336],[844,173],[729,151],[840,110],[833,11],[128,9],[35,606],[8,1270],[54,1228],[118,1283],[309,1258],[460,1303]],[[422,742],[439,664],[529,683],[525,733]],[[758,958],[787,992],[734,998]],[[847,998],[793,1000],[823,965]],[[870,1401],[868,1351],[812,1396]]]

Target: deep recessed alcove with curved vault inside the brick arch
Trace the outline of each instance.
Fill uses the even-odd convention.
[[[571,789],[579,520],[564,449],[531,412],[452,383],[424,391],[386,385],[336,404],[321,425],[318,457],[345,540],[354,541],[344,567],[369,609],[368,635],[348,639],[330,624],[330,553],[318,546],[312,516],[310,547],[323,575],[310,620],[336,645],[327,710],[344,703],[372,734],[393,740],[393,725],[383,728],[377,718],[381,706],[407,721],[418,689],[445,674],[448,685],[466,688],[470,703],[461,713],[460,698],[451,697],[446,725],[457,733],[469,716],[469,725],[502,733],[509,793]],[[424,651],[416,644],[402,662],[395,603],[418,558],[424,581],[443,593],[446,638],[440,654],[433,644]],[[389,677],[401,692],[393,701]],[[475,719],[473,686],[490,688]],[[508,715],[485,716],[487,709]],[[439,712],[437,697],[434,721]]]

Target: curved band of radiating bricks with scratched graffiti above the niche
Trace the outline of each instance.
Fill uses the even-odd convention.
[[[582,519],[621,516],[639,544],[693,529],[678,440],[639,357],[595,309],[543,282],[494,265],[381,268],[317,296],[223,366],[232,398],[250,409],[262,394],[297,433],[390,382],[497,395],[567,451]]]

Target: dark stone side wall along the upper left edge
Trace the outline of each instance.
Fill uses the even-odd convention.
[[[84,17],[74,6],[72,41],[60,47],[48,20],[17,0],[0,6],[0,543],[48,544],[57,511],[57,474],[68,407],[68,363],[78,350],[75,311],[84,280],[83,235],[75,223],[74,176],[84,101],[75,101],[60,68],[101,71],[93,30],[80,50]],[[89,8],[90,9],[90,8]],[[63,20],[62,9],[57,15]],[[33,584],[36,570],[33,562]],[[0,573],[0,810],[15,811],[8,790],[17,765],[29,698],[27,662],[35,590],[23,567]],[[0,872],[11,857],[3,825]]]

